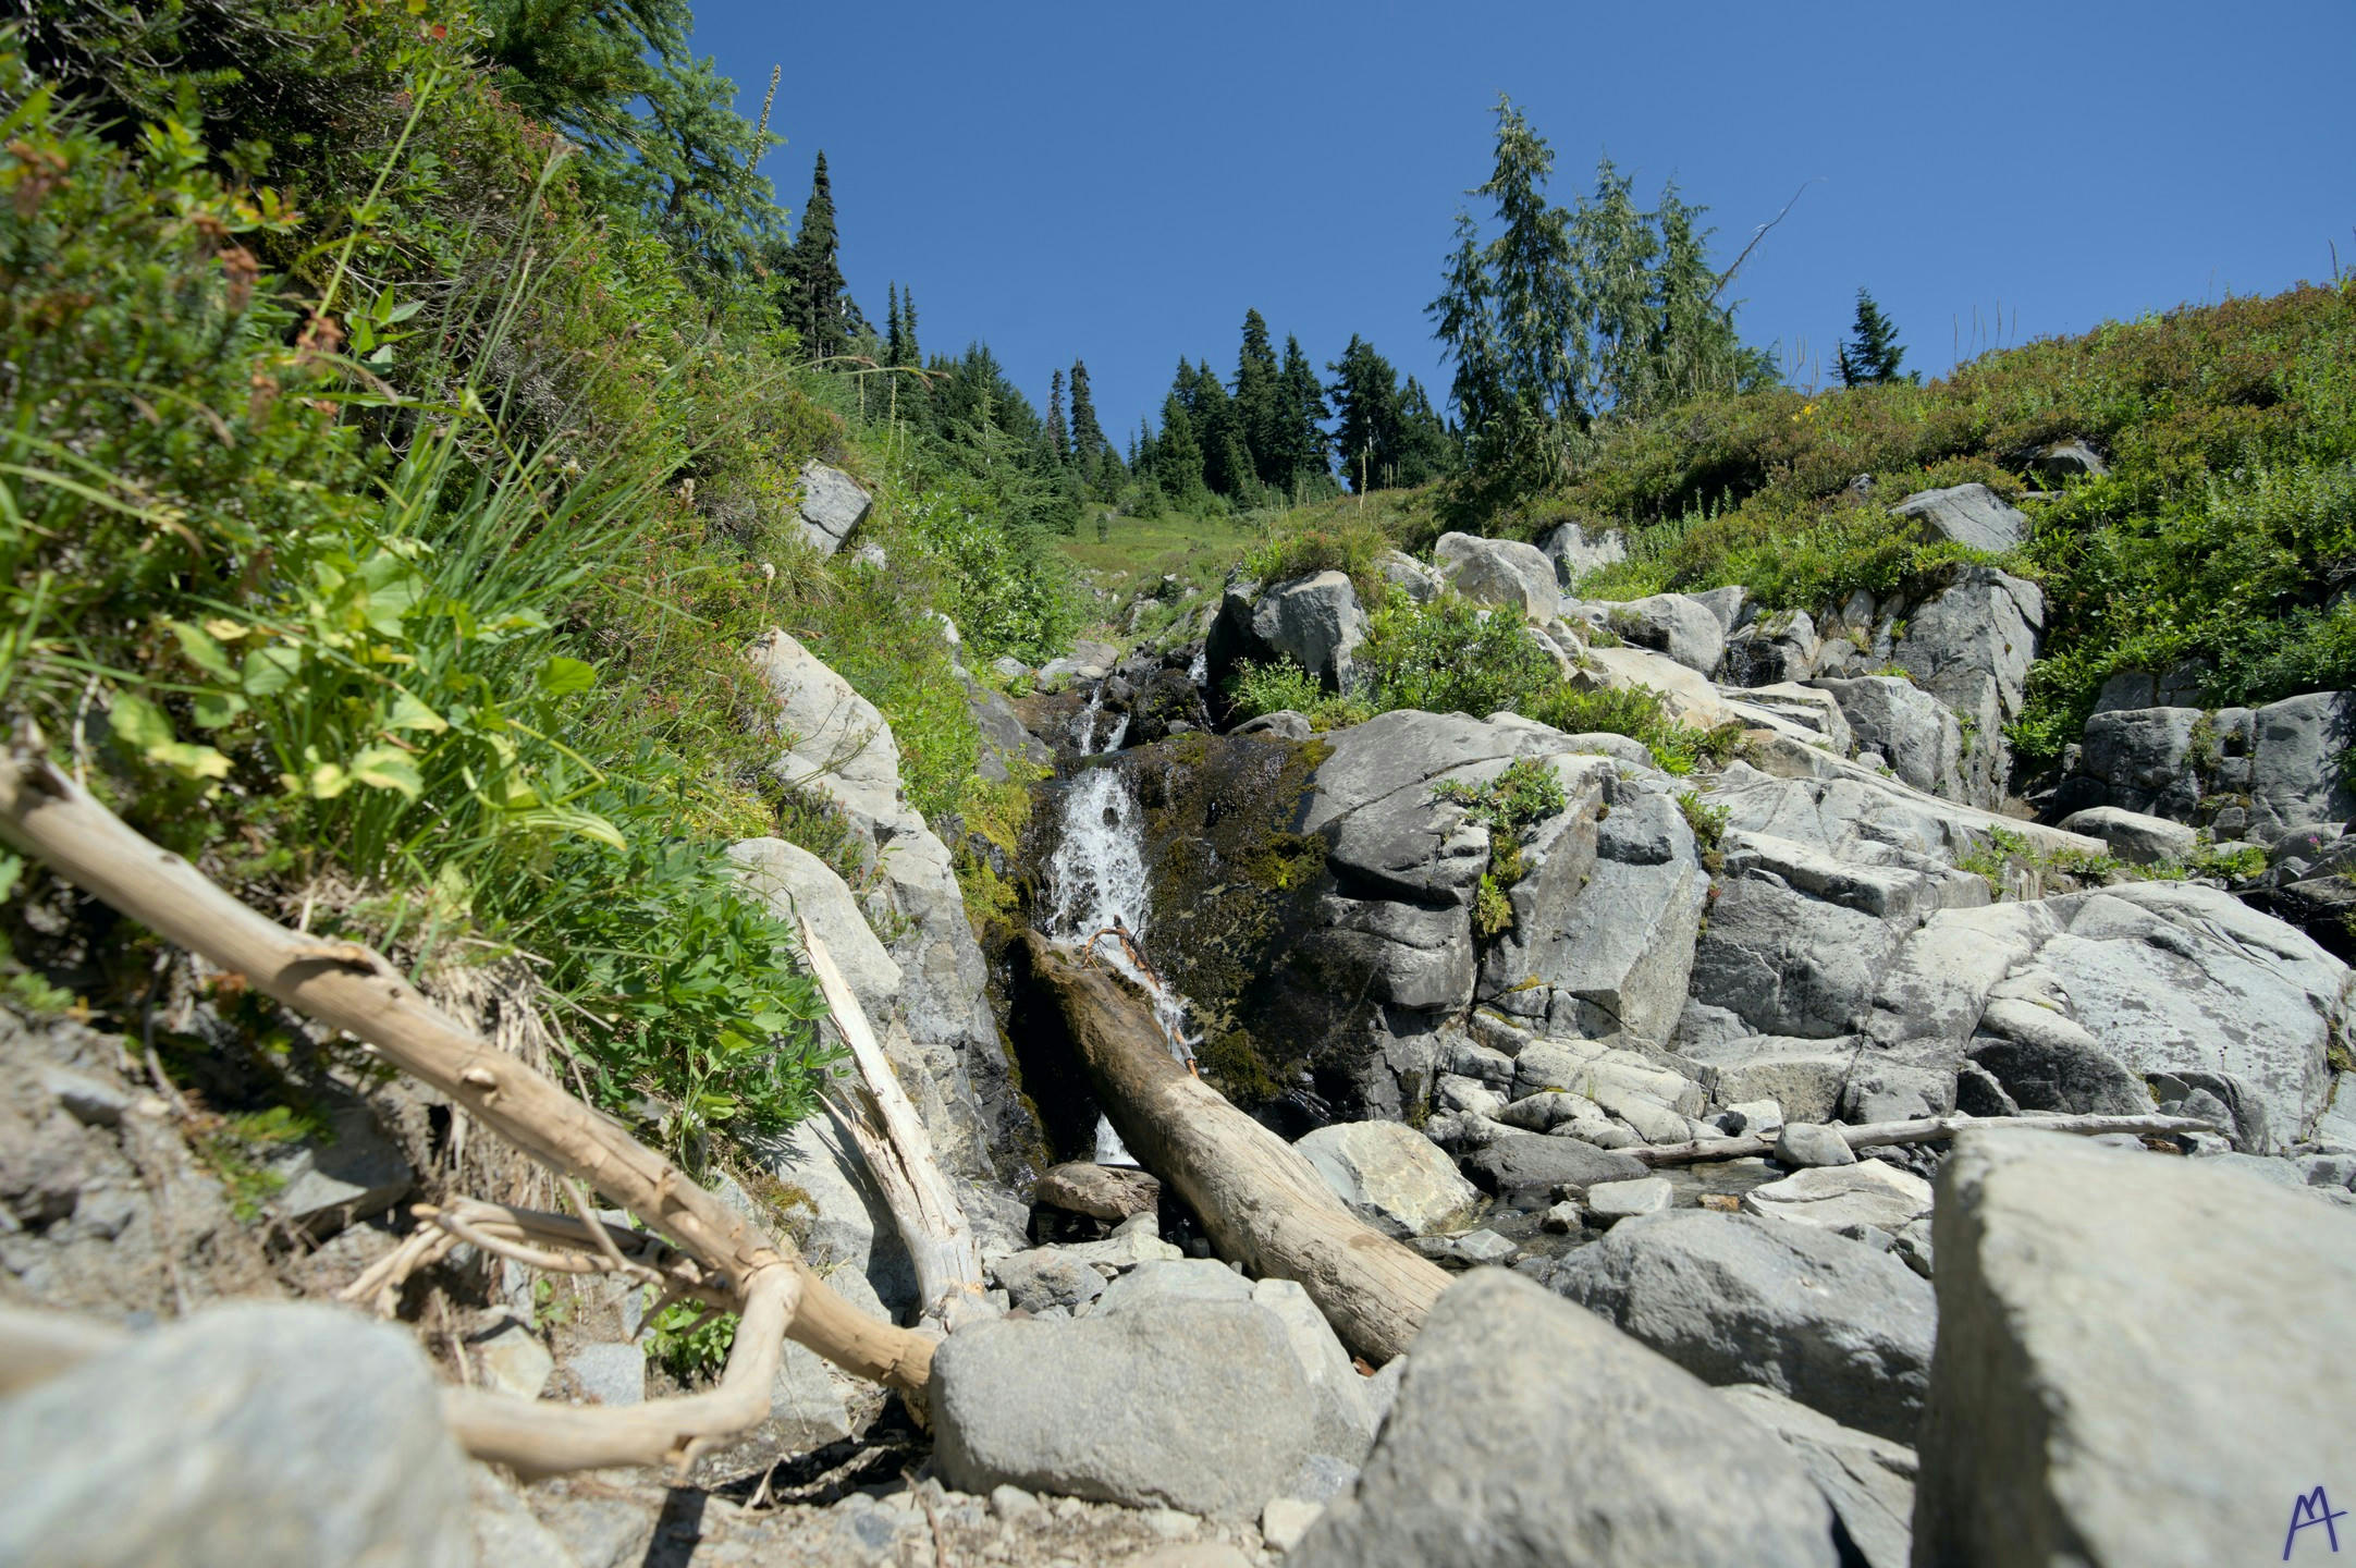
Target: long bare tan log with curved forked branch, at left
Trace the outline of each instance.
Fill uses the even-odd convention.
[[[782,1346],[759,1339],[777,1339],[780,1330],[860,1377],[907,1391],[921,1405],[933,1365],[931,1339],[860,1313],[671,1160],[448,1019],[379,953],[264,920],[177,854],[139,837],[42,752],[38,733],[26,729],[0,755],[0,837],[181,948],[356,1035],[549,1170],[605,1193],[702,1264],[704,1299],[723,1299],[744,1313],[737,1349],[714,1394],[629,1410],[561,1410],[525,1401],[492,1410],[488,1396],[452,1391],[452,1422],[481,1457],[525,1469],[686,1464],[697,1448],[768,1415]],[[601,1236],[589,1240],[605,1243]]]

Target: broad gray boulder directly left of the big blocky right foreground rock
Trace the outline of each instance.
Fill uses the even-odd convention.
[[[1767,1384],[1897,1441],[1922,1415],[1932,1290],[1831,1231],[1673,1210],[1614,1226],[1548,1285],[1703,1382]]]

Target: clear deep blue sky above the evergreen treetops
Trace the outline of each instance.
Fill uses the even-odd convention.
[[[1235,373],[1260,309],[1319,363],[1369,337],[1435,396],[1423,304],[1487,177],[1496,94],[1555,144],[1675,177],[1732,290],[1831,375],[1859,283],[1908,365],[2356,264],[2356,5],[773,5],[700,0],[796,210],[825,149],[843,271],[928,351],[982,337],[1046,401],[1088,361],[1114,441],[1178,356]],[[1802,365],[1800,377],[1807,380]]]

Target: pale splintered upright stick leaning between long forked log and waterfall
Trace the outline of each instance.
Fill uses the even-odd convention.
[[[810,974],[818,976],[827,1012],[834,1014],[834,1028],[851,1047],[851,1063],[860,1075],[858,1096],[829,1096],[834,1113],[851,1141],[860,1146],[860,1155],[884,1193],[884,1205],[900,1228],[900,1240],[907,1243],[907,1254],[916,1264],[919,1311],[940,1313],[952,1297],[982,1294],[982,1250],[973,1240],[973,1226],[957,1200],[957,1188],[933,1160],[933,1139],[924,1129],[916,1106],[907,1099],[891,1059],[867,1026],[867,1009],[860,1007],[858,993],[851,990],[810,922],[806,917],[796,917],[796,922],[801,948],[810,957]]]

